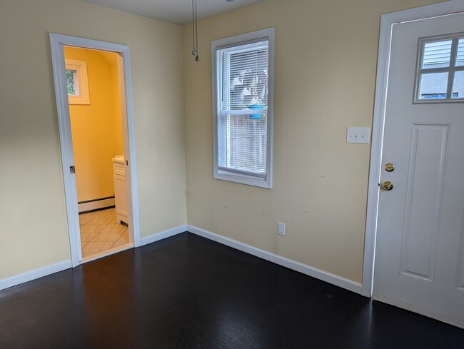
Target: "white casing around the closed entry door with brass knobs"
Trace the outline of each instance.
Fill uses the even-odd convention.
[[[368,210],[365,223],[363,286],[361,294],[372,297],[375,263],[375,237],[377,233],[378,198],[380,168],[383,148],[383,127],[387,105],[388,73],[390,69],[390,48],[394,24],[417,21],[448,14],[464,12],[464,0],[451,0],[439,4],[421,6],[415,9],[383,14],[380,17],[380,39],[378,46],[377,81],[375,84],[375,106],[370,150],[370,170],[368,187]]]

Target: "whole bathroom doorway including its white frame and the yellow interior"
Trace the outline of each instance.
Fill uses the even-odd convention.
[[[128,46],[50,41],[76,266],[140,244]]]

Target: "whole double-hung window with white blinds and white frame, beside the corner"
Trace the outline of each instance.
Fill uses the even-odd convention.
[[[214,177],[271,188],[273,29],[213,41]]]

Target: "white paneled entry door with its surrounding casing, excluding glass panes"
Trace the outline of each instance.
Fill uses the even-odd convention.
[[[379,49],[363,275],[363,294],[369,295],[376,246],[374,298],[460,327],[464,325],[464,103],[412,101],[418,37],[464,31],[463,14],[443,16],[463,10],[463,1],[448,1],[416,13],[401,11],[396,14],[398,21],[390,18],[388,25],[383,21],[383,34],[385,27],[393,30],[387,32],[391,46]],[[415,21],[434,15],[443,17]],[[382,57],[386,57],[383,62]],[[388,162],[395,163],[395,171],[383,169]],[[382,181],[392,181],[393,190],[379,192]]]

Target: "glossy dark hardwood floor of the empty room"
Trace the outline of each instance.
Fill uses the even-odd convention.
[[[0,291],[0,348],[464,348],[464,330],[191,233]]]

